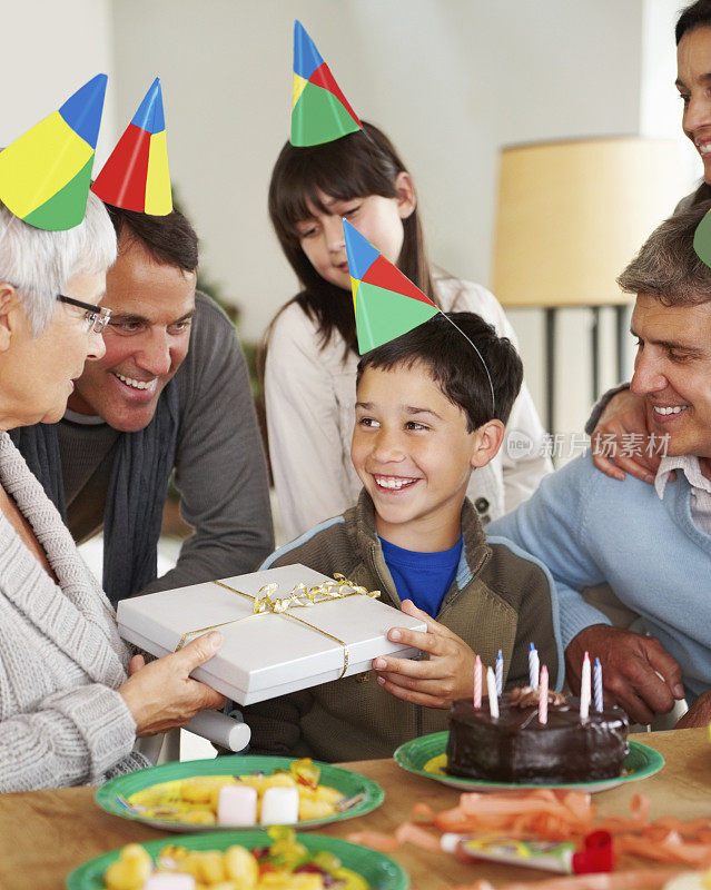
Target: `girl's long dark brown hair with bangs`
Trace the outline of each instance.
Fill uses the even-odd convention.
[[[271,224],[286,258],[304,286],[304,290],[287,306],[298,303],[318,324],[322,347],[337,330],[346,342],[344,357],[349,350],[357,352],[353,299],[343,288],[322,278],[312,266],[302,250],[296,224],[310,216],[309,205],[324,209],[319,192],[336,200],[369,195],[398,197],[395,179],[406,171],[405,165],[391,140],[377,127],[364,121],[363,130],[308,148],[295,148],[287,142],[274,166],[269,185]],[[403,220],[403,249],[397,266],[436,301],[417,207]],[[269,330],[265,340],[268,335]]]

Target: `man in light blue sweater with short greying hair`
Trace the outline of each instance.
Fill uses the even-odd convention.
[[[555,577],[569,681],[580,685],[585,651],[600,656],[605,693],[642,723],[684,695],[697,703],[683,725],[711,719],[711,269],[693,249],[709,209],[663,222],[619,278],[638,295],[631,387],[665,443],[654,485],[611,479],[589,453],[487,530]],[[652,636],[610,626],[582,599],[579,591],[603,582]]]

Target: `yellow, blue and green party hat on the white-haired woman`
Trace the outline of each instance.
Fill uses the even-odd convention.
[[[23,222],[61,231],[83,219],[107,80],[97,75],[0,152],[0,199]]]

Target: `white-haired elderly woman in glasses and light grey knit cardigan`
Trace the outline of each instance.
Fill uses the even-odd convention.
[[[80,783],[147,765],[136,738],[221,706],[189,679],[220,635],[145,665],[8,429],[53,423],[86,359],[103,355],[116,237],[89,195],[86,219],[42,231],[0,204],[0,791]],[[130,674],[130,675],[129,675]]]

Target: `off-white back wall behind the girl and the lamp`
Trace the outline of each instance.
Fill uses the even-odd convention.
[[[241,306],[243,336],[258,338],[296,288],[266,212],[271,166],[289,131],[295,16],[356,111],[382,125],[404,155],[434,259],[486,284],[501,146],[678,132],[675,6],[116,0],[119,131],[159,75],[171,175],[203,237],[204,268]],[[517,312],[512,320],[543,407],[540,314]],[[561,316],[559,428],[571,432],[590,403],[590,355],[580,348],[587,324],[585,310]],[[603,383],[614,377],[608,359]]]

